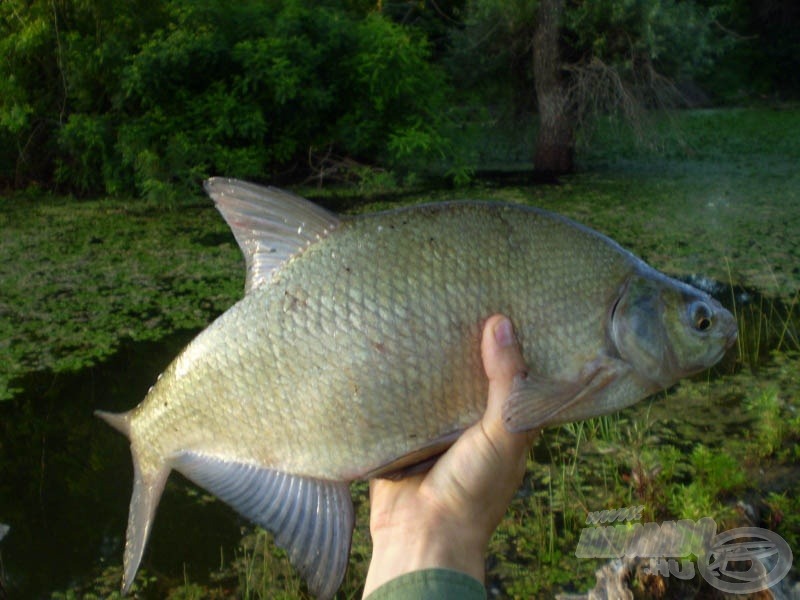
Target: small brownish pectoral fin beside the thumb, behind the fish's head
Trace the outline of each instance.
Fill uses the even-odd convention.
[[[588,408],[585,411],[577,408],[593,402],[608,385],[629,370],[630,367],[621,361],[601,357],[589,363],[576,381],[517,376],[503,405],[505,427],[516,433],[563,423],[568,420],[566,414],[590,416]]]

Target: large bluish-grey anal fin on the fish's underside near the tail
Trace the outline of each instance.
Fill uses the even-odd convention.
[[[331,598],[347,569],[353,504],[345,482],[300,477],[191,452],[174,468],[275,535],[318,598]]]

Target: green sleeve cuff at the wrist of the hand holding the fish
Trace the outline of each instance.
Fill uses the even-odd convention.
[[[424,569],[387,581],[366,600],[486,600],[475,578],[450,569]]]

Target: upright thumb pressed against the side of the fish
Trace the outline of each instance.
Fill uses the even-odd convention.
[[[514,335],[511,321],[503,315],[491,317],[481,340],[483,367],[489,378],[489,400],[483,427],[498,450],[516,455],[527,450],[537,432],[510,433],[503,426],[503,404],[511,394],[514,378],[524,376],[527,367]]]

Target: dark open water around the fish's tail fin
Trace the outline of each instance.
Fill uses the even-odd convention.
[[[75,375],[37,374],[26,392],[0,403],[0,575],[9,598],[49,598],[121,562],[132,487],[124,436],[92,416],[138,404],[195,332],[130,344]],[[188,488],[193,489],[193,488]],[[170,477],[143,566],[203,581],[230,559],[239,518],[221,503],[200,507]],[[2,592],[0,592],[2,594]],[[0,596],[2,597],[2,596]]]

